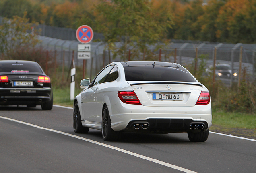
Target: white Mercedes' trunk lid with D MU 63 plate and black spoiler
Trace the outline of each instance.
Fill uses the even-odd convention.
[[[202,85],[197,82],[138,82],[128,81],[144,106],[194,106]]]

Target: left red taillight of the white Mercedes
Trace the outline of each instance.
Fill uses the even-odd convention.
[[[141,105],[134,91],[118,91],[118,97],[124,103]]]

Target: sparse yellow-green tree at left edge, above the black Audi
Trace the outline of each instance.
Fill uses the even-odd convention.
[[[37,30],[34,29],[33,33],[31,27],[37,23],[28,23],[29,20],[25,18],[26,12],[23,17],[14,16],[12,20],[4,18],[2,25],[0,25],[0,53],[9,57],[15,54],[21,47],[33,48],[39,40],[37,40]]]

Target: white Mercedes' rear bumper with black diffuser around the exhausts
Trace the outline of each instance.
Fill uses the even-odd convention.
[[[109,106],[109,115],[114,131],[196,132],[198,129],[191,129],[190,125],[203,125],[202,130],[212,125],[211,102],[193,107],[148,107],[119,102]],[[134,128],[134,125],[142,126],[143,123],[149,127]]]

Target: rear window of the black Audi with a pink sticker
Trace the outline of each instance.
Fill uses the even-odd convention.
[[[38,64],[35,63],[0,63],[0,72],[12,73],[28,73],[36,72],[43,73]]]

